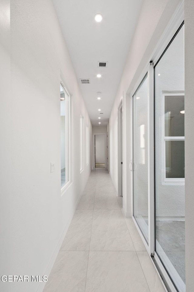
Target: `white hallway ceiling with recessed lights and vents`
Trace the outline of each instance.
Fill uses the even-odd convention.
[[[105,126],[143,0],[52,1],[92,126],[99,125],[99,116]],[[95,21],[96,13],[102,14],[102,22]],[[98,61],[108,61],[108,67],[98,68]],[[90,78],[91,84],[81,84],[79,78]],[[101,100],[97,92],[102,92]]]

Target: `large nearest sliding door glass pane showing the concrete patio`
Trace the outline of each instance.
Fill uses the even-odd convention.
[[[155,249],[180,292],[185,291],[184,141],[165,136],[184,137],[183,109],[184,26],[155,66]]]

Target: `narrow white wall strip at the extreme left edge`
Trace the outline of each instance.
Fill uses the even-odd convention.
[[[10,202],[12,182],[12,97],[10,90],[10,4],[0,4],[0,274],[9,275],[10,255]],[[0,284],[1,286],[1,284]],[[7,292],[8,289],[0,289]],[[10,291],[10,290],[9,290]]]

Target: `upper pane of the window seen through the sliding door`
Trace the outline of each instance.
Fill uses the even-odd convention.
[[[184,96],[165,96],[165,136],[185,136]]]

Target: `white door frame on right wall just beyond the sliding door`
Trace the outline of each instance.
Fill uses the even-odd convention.
[[[117,108],[117,121],[118,121],[118,196],[122,196],[122,164],[121,164],[121,156],[122,156],[122,132],[123,132],[123,108],[122,108],[122,101],[119,103]],[[122,113],[121,113],[122,110]],[[122,119],[122,120],[121,120]]]

